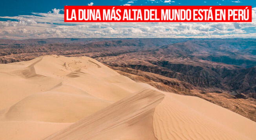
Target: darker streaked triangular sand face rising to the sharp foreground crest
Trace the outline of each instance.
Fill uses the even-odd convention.
[[[144,90],[94,113],[44,140],[157,140],[153,115],[164,94]]]

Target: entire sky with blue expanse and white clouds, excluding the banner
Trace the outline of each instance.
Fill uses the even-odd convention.
[[[247,23],[65,23],[64,5],[251,5]],[[0,38],[256,38],[254,0],[5,0]]]

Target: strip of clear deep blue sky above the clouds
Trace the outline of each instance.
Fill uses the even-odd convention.
[[[172,2],[174,1],[174,2]],[[51,9],[62,9],[64,5],[252,5],[254,0],[3,0],[0,16],[17,16],[33,12],[46,13]],[[130,2],[130,3],[129,3]]]

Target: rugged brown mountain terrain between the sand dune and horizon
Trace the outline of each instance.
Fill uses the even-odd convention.
[[[256,39],[0,39],[0,63],[52,54],[89,56],[133,81],[256,121]]]

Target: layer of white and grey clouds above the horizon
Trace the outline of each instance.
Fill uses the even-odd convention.
[[[65,23],[60,11],[0,17],[0,38],[256,38],[256,7],[250,23]]]

